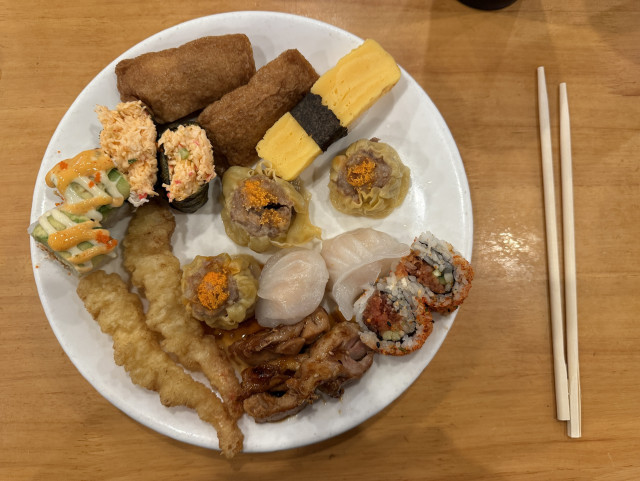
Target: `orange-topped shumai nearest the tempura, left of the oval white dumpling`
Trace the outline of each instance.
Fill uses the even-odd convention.
[[[196,256],[182,271],[187,311],[218,329],[235,329],[255,310],[260,264],[245,254]]]

